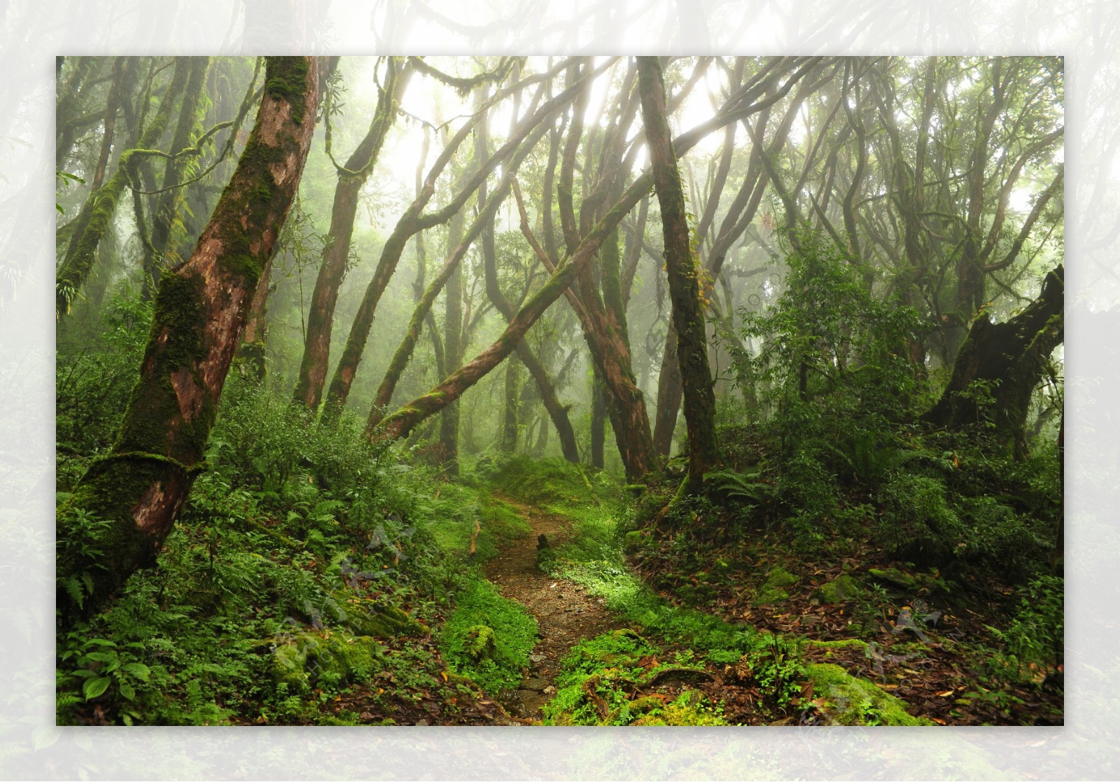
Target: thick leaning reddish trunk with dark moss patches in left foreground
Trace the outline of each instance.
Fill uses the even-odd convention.
[[[190,259],[166,274],[148,347],[116,441],[59,508],[72,540],[78,512],[109,522],[59,558],[84,576],[81,599],[58,594],[64,623],[102,605],[151,565],[203,468],[206,440],[245,315],[299,186],[318,106],[314,57],[270,57],[256,117],[237,168]],[[95,555],[90,552],[96,552]]]

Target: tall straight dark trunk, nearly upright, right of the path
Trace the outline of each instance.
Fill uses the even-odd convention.
[[[697,260],[692,253],[684,193],[665,118],[665,86],[656,57],[638,57],[638,84],[645,138],[653,162],[653,184],[661,204],[665,270],[673,302],[676,357],[681,365],[684,421],[689,432],[689,484],[699,490],[703,474],[719,462],[716,441],[716,397],[708,366],[708,339]]]

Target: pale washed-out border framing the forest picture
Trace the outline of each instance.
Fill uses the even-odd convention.
[[[1066,727],[53,727],[54,56],[577,52],[1066,56]],[[0,775],[1117,779],[1118,52],[1102,1],[0,0]]]

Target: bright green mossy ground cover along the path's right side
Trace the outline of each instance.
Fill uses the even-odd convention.
[[[575,534],[547,565],[549,572],[601,598],[632,630],[584,641],[564,658],[558,692],[543,709],[545,724],[765,724],[806,714],[834,724],[925,724],[874,682],[809,663],[796,639],[655,595],[626,562],[623,530],[632,527],[632,513],[620,500],[569,510]],[[792,576],[784,576],[776,581],[787,585]],[[673,676],[661,678],[669,669]],[[749,714],[741,707],[727,714],[718,696],[701,691],[698,685],[713,672],[758,692]]]

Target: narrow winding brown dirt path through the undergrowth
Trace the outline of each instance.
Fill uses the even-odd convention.
[[[556,693],[553,680],[568,651],[584,639],[625,625],[604,607],[601,599],[538,569],[538,537],[543,534],[550,546],[559,546],[570,536],[569,521],[508,497],[500,499],[521,513],[533,531],[487,562],[486,576],[504,597],[517,601],[536,617],[540,635],[530,655],[529,672],[503,704],[511,715],[535,720],[541,717],[541,706]]]

